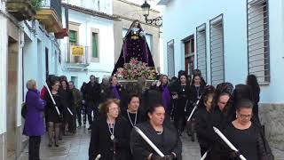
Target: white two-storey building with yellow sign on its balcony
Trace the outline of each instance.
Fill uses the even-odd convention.
[[[60,41],[62,72],[81,87],[94,75],[100,82],[114,68],[114,20],[111,0],[63,1],[64,27],[69,36]],[[89,4],[88,4],[89,3]]]

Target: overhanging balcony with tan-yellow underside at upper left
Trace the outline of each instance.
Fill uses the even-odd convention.
[[[45,25],[48,32],[62,31],[61,0],[44,0],[42,8],[36,12],[36,19]]]

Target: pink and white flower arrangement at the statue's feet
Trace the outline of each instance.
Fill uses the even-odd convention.
[[[145,77],[148,80],[156,78],[156,70],[148,67],[147,63],[139,61],[137,58],[131,58],[129,63],[125,63],[123,68],[117,68],[116,77],[126,80],[137,80],[139,77]]]

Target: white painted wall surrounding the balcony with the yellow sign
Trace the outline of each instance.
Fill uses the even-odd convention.
[[[64,10],[64,9],[63,9]],[[62,21],[65,21],[63,11]],[[86,71],[70,71],[63,68],[62,75],[71,80],[71,76],[78,76],[78,84],[89,82],[89,76],[95,75],[100,81],[104,76],[110,76],[114,69],[114,22],[99,17],[94,17],[82,12],[69,10],[69,21],[80,23],[79,44],[91,47],[91,28],[99,29],[99,62],[91,62]],[[65,26],[65,24],[64,24]],[[68,43],[68,37],[60,41],[61,51]],[[65,56],[65,52],[62,52]],[[64,61],[64,58],[62,57]]]

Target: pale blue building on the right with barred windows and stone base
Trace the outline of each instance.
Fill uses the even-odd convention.
[[[164,72],[199,68],[208,84],[261,84],[260,116],[266,136],[284,149],[284,89],[281,84],[284,2],[281,0],[176,1],[163,5]]]

